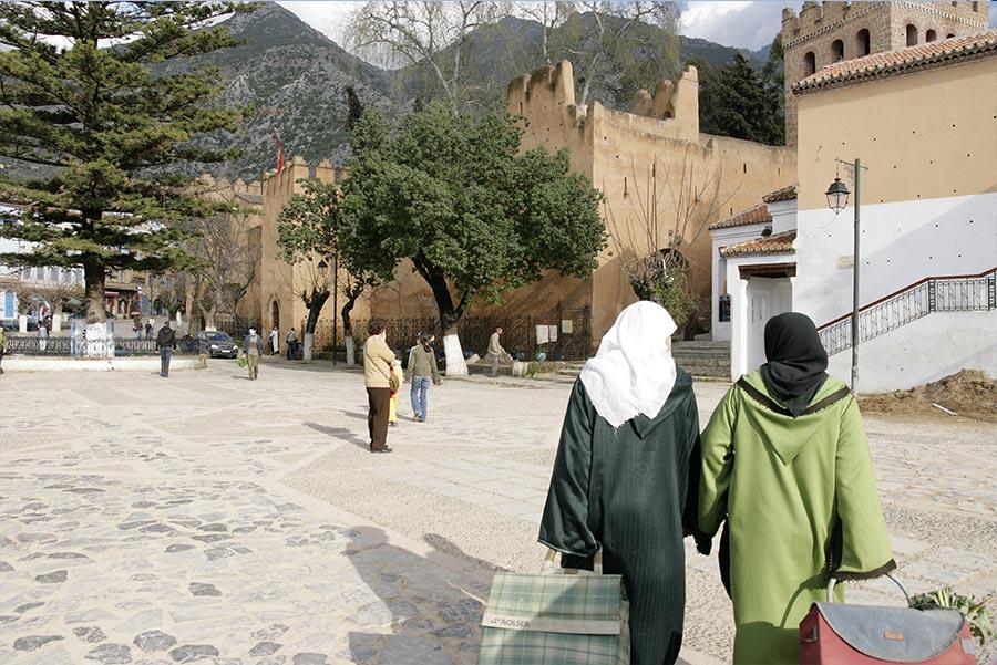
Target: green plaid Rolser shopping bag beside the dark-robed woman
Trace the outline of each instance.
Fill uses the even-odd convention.
[[[498,573],[481,621],[479,665],[628,665],[621,575]]]

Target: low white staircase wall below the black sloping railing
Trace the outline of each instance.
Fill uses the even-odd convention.
[[[828,371],[849,383],[851,367],[847,349],[831,356]],[[859,346],[860,393],[913,388],[959,370],[997,378],[997,310],[935,312]]]

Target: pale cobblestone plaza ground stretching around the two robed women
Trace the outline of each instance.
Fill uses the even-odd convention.
[[[539,565],[571,386],[445,381],[426,423],[403,394],[373,456],[359,373],[244,372],[0,377],[0,663],[475,662],[492,573]],[[866,417],[898,574],[993,595],[997,425],[943,417]],[[717,571],[687,544],[693,664],[730,656]]]

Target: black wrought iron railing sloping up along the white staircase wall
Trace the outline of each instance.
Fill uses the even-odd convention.
[[[927,278],[859,311],[859,342],[866,342],[933,312],[997,309],[997,269],[972,277]],[[852,346],[850,315],[818,329],[828,355]]]

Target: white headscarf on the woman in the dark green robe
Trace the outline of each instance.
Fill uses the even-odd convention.
[[[588,397],[607,423],[619,427],[638,414],[654,418],[665,406],[676,381],[675,331],[668,310],[654,302],[636,302],[616,318],[582,370]]]

